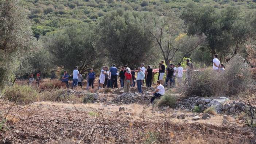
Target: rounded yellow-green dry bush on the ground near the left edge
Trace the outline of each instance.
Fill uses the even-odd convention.
[[[5,87],[3,90],[4,97],[9,101],[17,102],[18,104],[30,104],[38,101],[39,95],[34,87],[26,85],[13,85]]]

